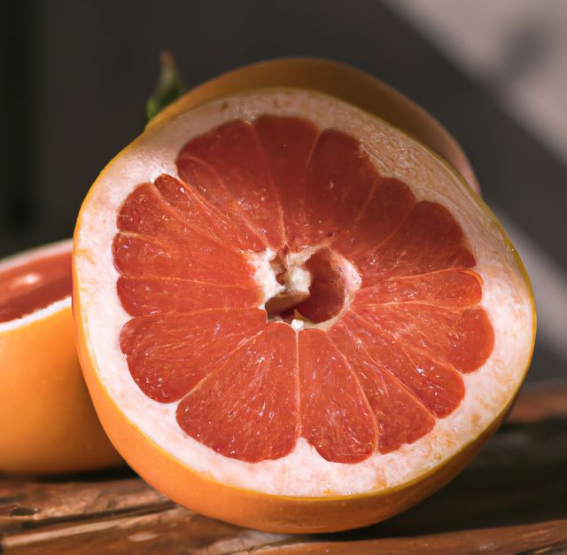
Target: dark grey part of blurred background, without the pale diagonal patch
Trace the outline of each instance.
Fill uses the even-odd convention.
[[[489,205],[567,270],[563,163],[377,0],[27,0],[1,10],[0,255],[72,234],[89,185],[142,129],[168,49],[188,87],[291,55],[345,61],[391,83],[457,137]],[[565,376],[559,350],[539,340],[530,379]]]

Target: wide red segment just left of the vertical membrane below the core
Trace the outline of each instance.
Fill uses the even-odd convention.
[[[268,324],[179,403],[179,425],[224,457],[289,455],[299,436],[296,353],[291,327]]]

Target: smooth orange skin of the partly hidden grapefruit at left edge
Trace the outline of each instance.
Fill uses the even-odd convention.
[[[0,332],[0,472],[74,473],[123,464],[82,379],[69,304]]]

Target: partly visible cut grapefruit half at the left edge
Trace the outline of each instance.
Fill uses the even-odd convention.
[[[82,379],[71,313],[71,240],[0,262],[0,472],[120,463]]]

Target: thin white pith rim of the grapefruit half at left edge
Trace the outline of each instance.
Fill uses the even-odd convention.
[[[58,241],[57,243],[50,243],[49,245],[39,246],[37,248],[24,251],[23,253],[13,254],[7,258],[0,261],[0,273],[12,270],[18,266],[23,266],[27,262],[32,262],[37,258],[43,258],[47,256],[54,256],[62,253],[70,253],[73,247],[72,239],[64,239]],[[0,334],[4,332],[10,332],[17,328],[23,327],[25,325],[36,322],[37,320],[43,320],[45,317],[49,317],[62,309],[68,309],[71,307],[71,292],[59,301],[51,302],[47,307],[43,309],[35,310],[31,314],[27,314],[24,317],[14,318],[9,322],[0,322]]]

